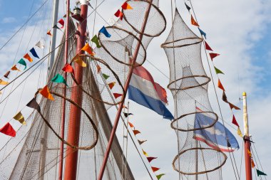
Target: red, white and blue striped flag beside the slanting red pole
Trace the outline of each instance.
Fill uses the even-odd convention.
[[[173,115],[165,107],[168,103],[165,89],[155,83],[148,70],[142,66],[134,68],[128,88],[130,100],[148,107],[150,110],[163,115],[165,119],[173,120]]]

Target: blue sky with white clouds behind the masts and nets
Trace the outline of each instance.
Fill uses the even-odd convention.
[[[34,4],[32,5],[33,2]],[[51,1],[49,1],[49,3],[50,2]],[[99,2],[101,1],[98,1],[98,3]],[[122,3],[123,1],[121,0],[106,0],[98,8],[98,13],[108,20]],[[200,28],[207,33],[206,41],[213,48],[215,53],[220,53],[220,56],[215,58],[214,64],[225,73],[225,75],[220,75],[219,77],[226,90],[228,100],[235,105],[242,107],[242,101],[239,100],[239,97],[242,97],[243,91],[247,92],[250,134],[252,134],[257,154],[260,157],[265,173],[271,174],[271,169],[269,168],[269,163],[271,162],[271,144],[270,140],[268,140],[271,125],[271,73],[269,68],[271,65],[271,32],[269,31],[271,28],[271,1],[193,0],[192,3]],[[59,14],[63,14],[63,1],[61,1],[60,4]],[[71,4],[73,6],[74,1],[72,1]],[[94,6],[95,1],[91,1],[91,4]],[[4,45],[4,42],[6,42],[7,39],[26,21],[29,14],[34,13],[40,5],[41,1],[23,0],[15,2],[0,0],[0,46]],[[190,26],[190,14],[188,14],[188,11],[185,9],[184,1],[177,1],[176,6],[184,21]],[[165,38],[170,31],[171,12],[169,1],[160,0],[159,8],[165,15],[167,27],[165,32],[158,38],[153,38],[150,46],[148,46],[148,61],[145,62],[144,67],[150,71],[157,83],[160,83],[160,85],[166,88],[169,80],[165,75],[169,76],[169,69],[167,58],[163,49],[160,48],[160,44],[165,41]],[[2,72],[2,75],[4,75],[6,70],[14,63],[14,60],[19,59],[27,49],[34,46],[36,41],[39,41],[41,38],[46,38],[46,36],[44,36],[46,30],[44,29],[46,29],[46,26],[49,27],[51,25],[49,25],[49,23],[48,25],[44,23],[45,28],[41,28],[41,31],[38,31],[39,26],[35,26],[35,24],[36,21],[42,23],[42,18],[44,16],[50,18],[50,9],[51,6],[48,6],[47,11],[37,14],[33,20],[29,21],[26,25],[24,38],[21,38],[23,32],[20,31],[19,35],[14,36],[11,42],[0,51],[0,72]],[[88,29],[90,31],[93,28],[93,18],[94,16],[90,16],[88,19]],[[94,33],[97,33],[104,24],[105,22],[103,19],[97,16]],[[193,26],[190,26],[190,28],[197,33],[198,36],[200,35],[197,28]],[[31,35],[32,31],[34,33]],[[58,31],[58,35],[60,37],[61,32]],[[29,39],[31,39],[31,41],[29,41]],[[20,46],[18,48],[19,44]],[[16,52],[17,55],[15,54]],[[38,53],[43,52],[39,51]],[[156,70],[150,63],[153,63],[165,75]],[[46,64],[46,62],[44,64]],[[203,65],[206,73],[210,76],[210,70],[204,55]],[[214,75],[213,69],[212,72]],[[39,72],[35,72],[34,76],[39,75],[40,73],[41,75],[44,75],[45,71],[40,70]],[[215,84],[217,80],[216,76],[214,76]],[[38,86],[41,86],[45,83],[45,79],[41,82],[37,82],[33,77],[31,79],[31,85],[25,86],[24,92],[27,93],[20,98],[19,104],[18,97],[10,97],[10,105],[8,103],[5,108],[3,105],[0,106],[0,125],[4,125],[18,109],[24,107],[33,95],[31,92],[36,91],[37,83]],[[222,92],[218,88],[216,88],[216,90],[218,91],[218,98],[220,100]],[[169,90],[167,90],[167,92],[169,100],[168,109],[174,113],[173,97]],[[209,85],[208,92],[213,110],[219,113],[218,102],[215,98],[212,83]],[[18,92],[18,95],[19,94],[20,93]],[[17,108],[12,106],[12,103],[14,102],[16,102],[16,105],[18,104]],[[173,129],[170,128],[170,121],[163,120],[163,117],[160,117],[160,115],[155,114],[155,112],[152,112],[145,107],[137,105],[135,102],[129,102],[130,110],[134,114],[133,117],[131,117],[131,122],[133,122],[133,125],[141,132],[141,134],[138,135],[138,138],[148,139],[148,142],[143,145],[144,150],[148,152],[148,154],[153,154],[153,156],[158,157],[158,159],[153,161],[153,166],[160,167],[160,172],[166,174],[164,179],[178,179],[178,174],[173,171],[171,165],[178,149],[177,137]],[[230,112],[229,107],[222,100],[220,100],[220,106],[223,111],[225,122],[230,124],[232,113]],[[234,111],[234,113],[243,132],[242,110]],[[109,110],[109,114],[111,115],[111,119],[114,120],[116,111],[111,109]],[[228,125],[226,125],[226,127],[230,129],[232,134],[235,134],[240,147],[242,147],[242,139],[237,136],[236,129],[233,129]],[[120,142],[122,142],[122,124],[118,127],[117,135]],[[6,137],[1,135],[0,138],[5,139]],[[240,169],[241,156],[242,149],[239,149],[235,152],[238,169]],[[136,154],[134,147],[131,145],[131,141],[129,141],[128,145],[128,162],[136,179],[149,179],[148,174],[142,167],[142,162],[138,159],[138,154]],[[242,162],[241,179],[245,179],[245,166],[243,164],[244,163]],[[253,176],[255,175],[253,174]],[[223,166],[223,178],[235,179],[230,159],[227,159],[225,166]]]

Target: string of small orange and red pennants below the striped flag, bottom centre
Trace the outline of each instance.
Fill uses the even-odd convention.
[[[124,117],[127,118],[129,115],[133,115],[133,114],[132,113],[123,112],[123,115],[124,115]],[[138,139],[138,137],[136,135],[141,134],[141,132],[138,129],[136,129],[136,127],[131,122],[128,122],[128,125],[131,127],[131,129],[133,131],[133,134],[135,135],[136,139],[138,140],[138,143],[139,143],[139,145],[140,145],[140,147],[142,149],[142,152],[145,155],[146,159],[148,160],[148,163],[150,164],[150,167],[151,167],[153,173],[155,174],[156,178],[159,180],[165,174],[156,174],[156,171],[158,171],[160,168],[152,166],[152,164],[151,164],[151,162],[154,159],[157,159],[157,157],[150,157],[148,155],[148,153],[143,150],[142,144],[144,142],[146,142],[147,140],[140,140],[140,139]]]

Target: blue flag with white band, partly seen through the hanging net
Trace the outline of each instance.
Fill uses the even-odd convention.
[[[213,118],[195,114],[195,128],[210,127],[214,122]],[[205,142],[214,149],[220,149],[222,152],[233,152],[239,149],[239,144],[235,136],[220,122],[215,122],[214,127],[199,129],[194,131],[194,139]]]

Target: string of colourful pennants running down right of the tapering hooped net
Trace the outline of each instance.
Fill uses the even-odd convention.
[[[232,124],[235,125],[235,126],[237,126],[237,134],[240,137],[243,137],[242,132],[240,130],[240,126],[238,125],[238,122],[235,119],[235,115],[234,115],[234,113],[232,111],[233,109],[240,110],[240,108],[227,101],[227,95],[225,94],[225,88],[224,88],[224,86],[221,83],[220,78],[219,78],[219,74],[223,74],[224,75],[224,73],[223,73],[222,70],[220,70],[217,67],[215,67],[215,64],[214,64],[214,58],[218,57],[218,55],[220,55],[220,54],[219,53],[213,53],[213,48],[211,48],[209,46],[209,44],[206,42],[206,33],[203,30],[200,29],[199,23],[195,20],[195,18],[193,18],[193,14],[190,12],[190,9],[191,9],[190,6],[188,6],[188,4],[185,3],[185,7],[186,7],[186,9],[188,9],[189,13],[191,14],[191,24],[193,26],[197,26],[198,30],[200,31],[200,35],[202,36],[202,38],[204,37],[203,38],[203,42],[204,42],[203,45],[205,47],[205,52],[206,52],[206,54],[209,54],[210,59],[211,59],[212,64],[213,64],[213,68],[215,69],[215,73],[218,76],[218,88],[220,88],[220,90],[223,90],[222,100],[224,102],[226,102],[230,106],[230,110],[232,112]],[[208,53],[207,53],[207,51],[208,51]],[[212,51],[212,52],[210,52],[210,51]]]

